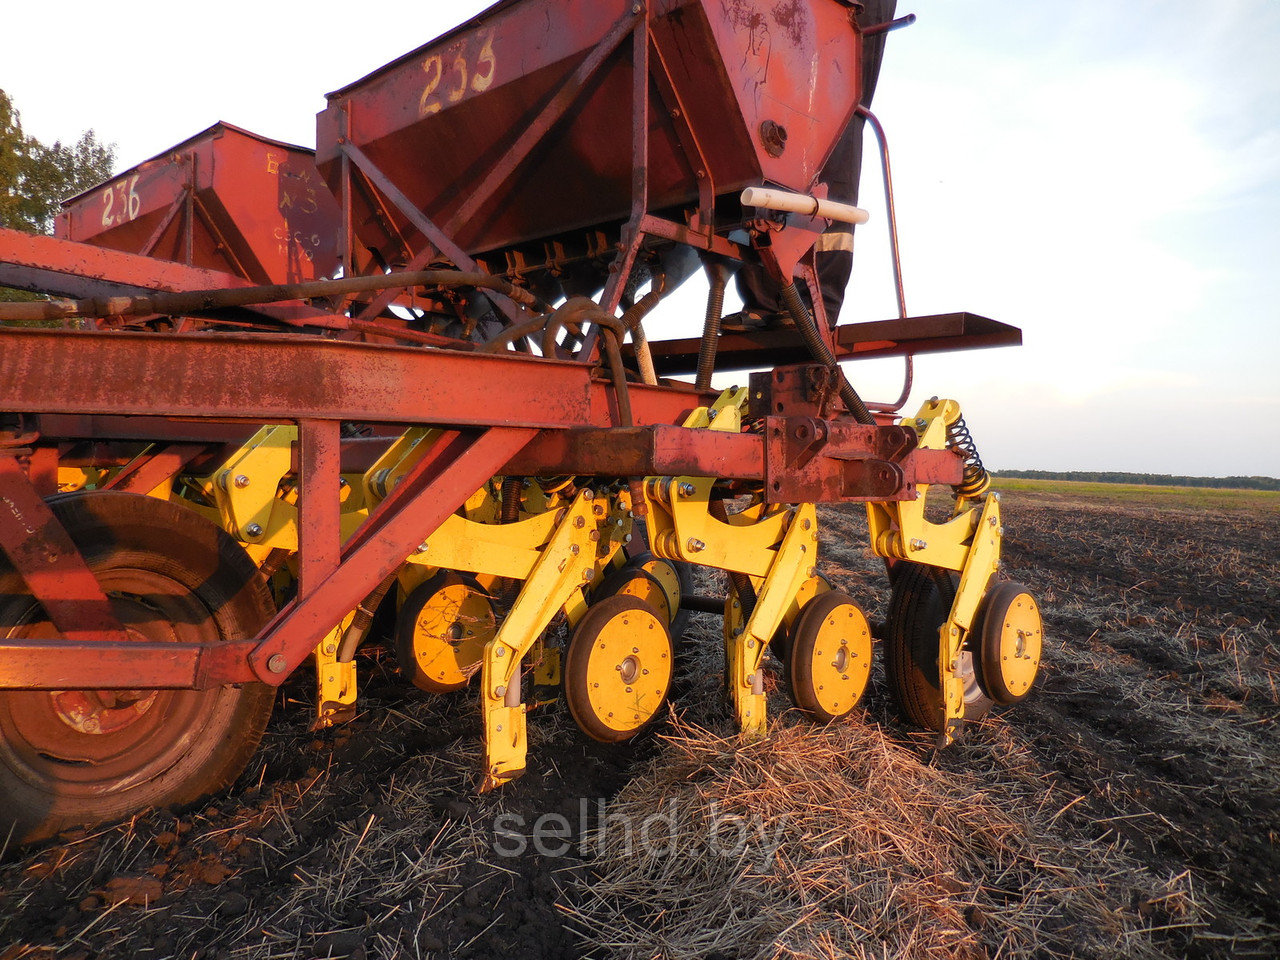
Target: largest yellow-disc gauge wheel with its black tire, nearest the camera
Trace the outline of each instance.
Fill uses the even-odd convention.
[[[564,655],[573,721],[593,740],[630,740],[667,703],[672,660],[667,621],[644,600],[621,594],[593,604]]]

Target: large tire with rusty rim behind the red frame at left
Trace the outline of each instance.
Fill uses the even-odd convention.
[[[266,581],[248,554],[186,507],[114,492],[56,497],[50,507],[134,636],[242,640],[271,618]],[[0,636],[51,634],[0,554]],[[0,847],[6,837],[28,844],[223,790],[257,749],[274,699],[265,684],[0,690]]]

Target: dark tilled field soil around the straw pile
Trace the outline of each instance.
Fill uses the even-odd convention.
[[[1280,515],[1048,494],[1005,512],[1004,572],[1047,616],[1037,694],[937,758],[879,669],[872,718],[993,791],[1016,776],[1070,795],[1064,829],[1180,878],[1199,919],[1135,905],[1165,955],[1280,955]],[[861,511],[823,513],[827,572],[883,617]],[[361,681],[357,718],[320,735],[305,685],[282,691],[244,776],[198,809],[10,852],[0,960],[581,956],[562,909],[589,870],[573,841],[655,739],[593,744],[552,705],[530,717],[529,773],[477,795],[471,696],[420,694],[378,645]],[[710,685],[684,689],[687,705]]]

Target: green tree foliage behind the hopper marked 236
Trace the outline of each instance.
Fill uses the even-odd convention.
[[[52,233],[59,205],[108,179],[114,168],[115,146],[100,143],[92,129],[70,145],[28,137],[0,90],[0,227]]]

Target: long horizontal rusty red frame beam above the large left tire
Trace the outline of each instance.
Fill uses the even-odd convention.
[[[631,385],[636,424],[680,422],[705,398]],[[621,422],[584,364],[311,337],[0,329],[0,410],[547,429]]]

